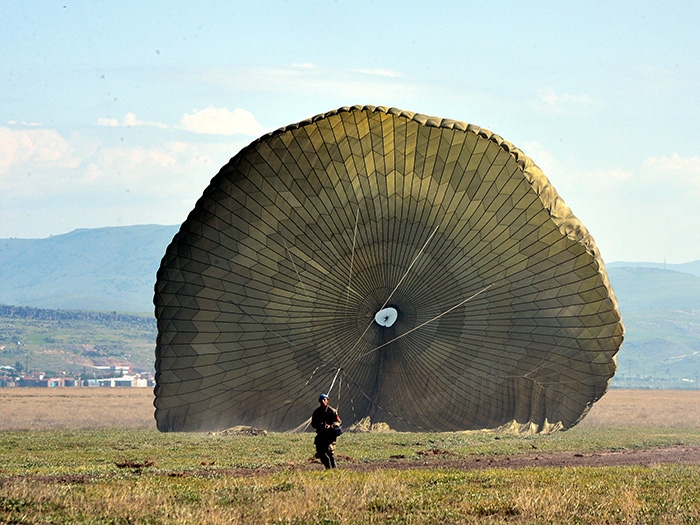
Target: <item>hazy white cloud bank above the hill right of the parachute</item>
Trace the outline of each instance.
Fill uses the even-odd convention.
[[[555,169],[545,173],[593,235],[605,261],[681,263],[700,257],[700,238],[688,233],[688,225],[700,223],[697,156],[673,153],[636,165],[594,168],[583,168],[575,159],[553,160]]]

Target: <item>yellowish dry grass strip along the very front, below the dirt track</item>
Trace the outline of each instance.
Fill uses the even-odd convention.
[[[6,523],[692,523],[699,467],[157,474],[0,487]]]

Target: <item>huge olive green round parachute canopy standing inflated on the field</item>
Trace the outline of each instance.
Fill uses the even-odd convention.
[[[267,134],[212,179],[163,257],[163,431],[575,425],[623,327],[598,249],[497,135],[374,106]]]

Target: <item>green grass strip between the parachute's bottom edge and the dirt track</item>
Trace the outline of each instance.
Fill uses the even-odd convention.
[[[313,435],[272,433],[226,437],[155,430],[5,431],[0,433],[0,475],[114,473],[117,462],[152,461],[151,470],[177,471],[271,468],[308,463]],[[451,457],[513,456],[533,452],[600,452],[654,446],[700,445],[697,429],[577,427],[549,436],[493,432],[350,434],[337,453],[356,462],[425,459],[440,449]],[[439,463],[440,459],[431,461]]]

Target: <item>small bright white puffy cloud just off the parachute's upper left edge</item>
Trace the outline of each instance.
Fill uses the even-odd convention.
[[[192,133],[252,137],[266,132],[250,111],[241,108],[229,111],[214,106],[184,114],[180,119],[180,128]]]

